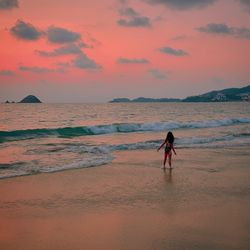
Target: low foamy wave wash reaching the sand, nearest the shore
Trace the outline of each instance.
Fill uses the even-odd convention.
[[[127,151],[127,150],[156,150],[162,140],[149,140],[140,141],[136,143],[128,144],[117,144],[117,145],[86,145],[86,144],[60,144],[60,143],[49,143],[44,144],[39,149],[33,148],[29,151],[29,154],[35,156],[50,155],[53,153],[61,153],[62,157],[67,157],[68,153],[76,154],[76,158],[72,163],[69,164],[51,164],[50,166],[44,165],[44,163],[33,161],[30,162],[13,162],[0,164],[0,179],[9,178],[22,175],[34,175],[39,173],[51,173],[58,172],[68,169],[77,168],[89,168],[97,167],[100,165],[108,164],[113,161],[114,153],[116,151]],[[220,148],[220,147],[231,147],[231,146],[249,146],[250,145],[250,133],[238,133],[228,134],[217,137],[185,137],[176,138],[175,146],[176,149],[180,148]]]

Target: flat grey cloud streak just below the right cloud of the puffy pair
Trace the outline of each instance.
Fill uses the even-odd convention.
[[[81,44],[80,44],[80,46],[78,46],[74,43],[70,43],[70,44],[67,44],[65,46],[54,49],[53,51],[36,50],[36,53],[38,53],[38,55],[44,56],[44,57],[63,56],[63,55],[78,55],[78,54],[82,53],[81,47],[82,47]]]

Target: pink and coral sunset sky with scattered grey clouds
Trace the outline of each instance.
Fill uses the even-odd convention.
[[[0,0],[0,102],[250,84],[250,0]]]

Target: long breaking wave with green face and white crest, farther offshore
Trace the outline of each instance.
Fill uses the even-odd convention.
[[[44,137],[77,137],[113,133],[158,132],[171,129],[215,128],[250,123],[250,118],[225,118],[196,122],[114,123],[108,125],[0,131],[0,143]]]

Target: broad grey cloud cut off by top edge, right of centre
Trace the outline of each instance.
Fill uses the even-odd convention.
[[[174,10],[188,10],[193,8],[205,8],[217,0],[145,0],[149,4],[163,4]]]

